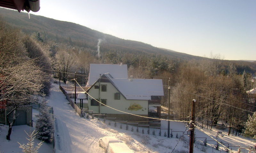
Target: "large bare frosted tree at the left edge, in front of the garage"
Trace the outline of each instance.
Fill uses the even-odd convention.
[[[42,89],[44,73],[29,59],[21,41],[20,32],[0,26],[0,101],[6,101],[9,130],[6,138],[10,140],[12,125],[21,105],[30,102],[32,95]]]

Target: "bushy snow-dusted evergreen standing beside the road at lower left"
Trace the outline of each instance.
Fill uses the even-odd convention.
[[[49,142],[53,132],[53,121],[52,116],[48,112],[47,102],[43,99],[40,103],[41,109],[39,110],[41,115],[36,115],[36,130],[38,131],[37,138],[46,142]]]

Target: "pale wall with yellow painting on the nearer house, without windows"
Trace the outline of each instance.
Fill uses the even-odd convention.
[[[107,92],[100,91],[100,99],[107,99],[107,105],[115,108],[120,111],[132,113],[132,114],[144,114],[148,115],[148,100],[126,100],[122,94],[120,94],[120,100],[115,100],[115,93],[118,92],[116,88],[111,83],[101,82],[101,85],[107,85]],[[95,85],[99,85],[97,82]],[[89,95],[91,95],[95,99],[99,99],[99,89],[94,89],[92,87],[89,90]],[[88,107],[89,110],[92,110],[93,113],[99,113],[99,106],[91,106],[92,97],[88,95]],[[132,104],[140,104],[142,109],[138,111],[130,111],[128,108]],[[113,110],[107,106],[101,106],[100,104],[100,113],[108,113],[108,114],[124,114],[123,112]]]

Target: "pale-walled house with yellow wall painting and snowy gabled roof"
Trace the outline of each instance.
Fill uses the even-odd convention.
[[[89,110],[106,117],[116,117],[116,120],[148,121],[147,118],[124,112],[155,119],[161,115],[160,98],[164,96],[162,80],[133,79],[132,76],[130,79],[117,79],[111,73],[105,73],[95,80],[87,93]],[[104,106],[95,99],[123,112]],[[152,109],[149,111],[152,106],[156,108],[153,112]]]

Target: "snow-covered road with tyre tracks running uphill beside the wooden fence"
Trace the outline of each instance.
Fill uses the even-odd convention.
[[[100,137],[108,135],[108,131],[80,118],[60,91],[59,85],[52,84],[51,95],[47,100],[54,110],[56,152],[104,152],[98,141]]]

